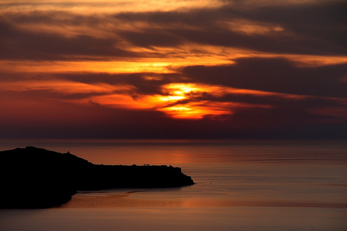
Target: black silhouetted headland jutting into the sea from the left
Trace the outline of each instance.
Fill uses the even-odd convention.
[[[35,147],[0,151],[0,178],[0,208],[54,207],[79,190],[194,184],[177,167],[99,165]]]

